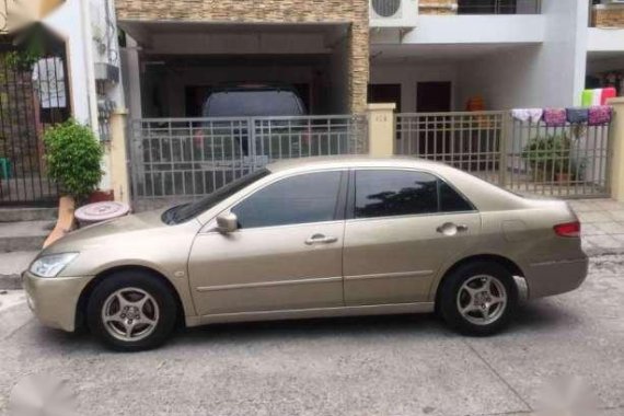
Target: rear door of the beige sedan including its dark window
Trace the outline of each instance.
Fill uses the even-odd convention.
[[[440,267],[479,233],[478,212],[431,173],[362,169],[353,176],[343,259],[346,304],[427,301]]]

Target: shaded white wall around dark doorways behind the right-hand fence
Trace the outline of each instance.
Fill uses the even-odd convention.
[[[454,109],[461,109],[457,102],[458,66],[454,63],[371,63],[370,83],[372,84],[401,84],[401,111],[403,113],[416,112],[416,90],[418,82],[450,81],[451,103]]]

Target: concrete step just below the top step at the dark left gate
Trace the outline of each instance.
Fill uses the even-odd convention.
[[[54,221],[0,222],[0,253],[41,250],[54,224]]]

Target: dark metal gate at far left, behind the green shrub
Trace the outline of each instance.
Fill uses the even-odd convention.
[[[45,173],[43,134],[70,115],[65,46],[33,58],[0,38],[0,206],[58,200]]]

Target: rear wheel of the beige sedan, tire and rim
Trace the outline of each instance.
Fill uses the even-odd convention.
[[[474,262],[447,276],[438,309],[453,330],[487,336],[507,326],[517,304],[518,287],[512,274],[497,263]]]

